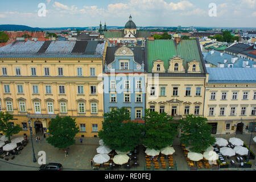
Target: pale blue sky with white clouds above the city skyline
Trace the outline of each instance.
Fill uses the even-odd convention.
[[[256,27],[256,0],[0,0],[0,24],[30,27]],[[39,16],[46,5],[46,16]],[[216,9],[210,6],[216,5]],[[209,15],[209,11],[210,14]],[[212,14],[216,12],[216,14]],[[216,16],[213,16],[216,15]]]

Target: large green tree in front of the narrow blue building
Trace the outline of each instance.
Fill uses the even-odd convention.
[[[131,151],[140,143],[142,125],[131,122],[130,113],[126,110],[122,107],[104,114],[102,130],[98,135],[112,150]]]

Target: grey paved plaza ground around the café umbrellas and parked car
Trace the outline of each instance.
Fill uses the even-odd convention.
[[[253,137],[255,134],[253,135]],[[249,146],[250,134],[242,134],[242,135],[214,135],[214,137],[222,137],[225,139],[229,139],[232,137],[237,137],[242,139],[247,146]],[[30,137],[28,138],[30,139]],[[80,144],[80,138],[75,138],[76,144],[69,147],[68,158],[64,158],[64,151],[60,151],[58,148],[51,146],[48,144],[46,139],[42,139],[40,143],[36,143],[33,140],[36,159],[39,158],[38,152],[45,151],[46,152],[46,163],[49,162],[59,162],[63,164],[64,170],[93,170],[90,165],[90,159],[97,154],[96,148],[99,146],[98,141],[99,138],[83,138],[82,144]],[[178,171],[187,171],[189,170],[188,164],[185,156],[183,155],[182,148],[180,146],[179,138],[175,138],[174,144],[172,145],[175,149],[174,153],[174,162],[177,164]],[[256,153],[256,143],[251,142],[251,150]],[[142,171],[145,169],[145,157],[143,148],[139,148],[138,161],[139,166],[133,167],[129,169],[130,171]],[[253,163],[251,168],[227,168],[220,170],[255,170],[255,160],[250,160]],[[32,156],[32,146],[31,140],[27,144],[26,147],[23,148],[20,155],[15,155],[15,159],[13,160],[3,160],[0,159],[0,170],[11,170],[11,171],[19,171],[19,170],[38,170],[39,164],[33,162]],[[104,170],[104,167],[101,167],[100,170]],[[117,170],[127,170],[125,168],[118,168]],[[158,169],[163,170],[163,169]],[[200,171],[207,169],[199,169]]]

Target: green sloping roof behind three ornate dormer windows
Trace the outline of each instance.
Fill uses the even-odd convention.
[[[169,68],[169,60],[174,56],[179,56],[188,63],[197,60],[200,63],[201,72],[203,73],[203,65],[199,47],[196,40],[182,40],[176,44],[174,40],[147,40],[147,71],[151,72],[155,60],[163,60],[164,68]]]

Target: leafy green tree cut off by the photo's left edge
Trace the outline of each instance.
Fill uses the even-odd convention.
[[[18,134],[22,131],[22,127],[19,125],[13,125],[13,123],[9,122],[13,119],[13,115],[9,114],[8,112],[0,112],[0,131],[5,134],[8,138],[9,142],[11,142],[11,136],[14,134]]]

